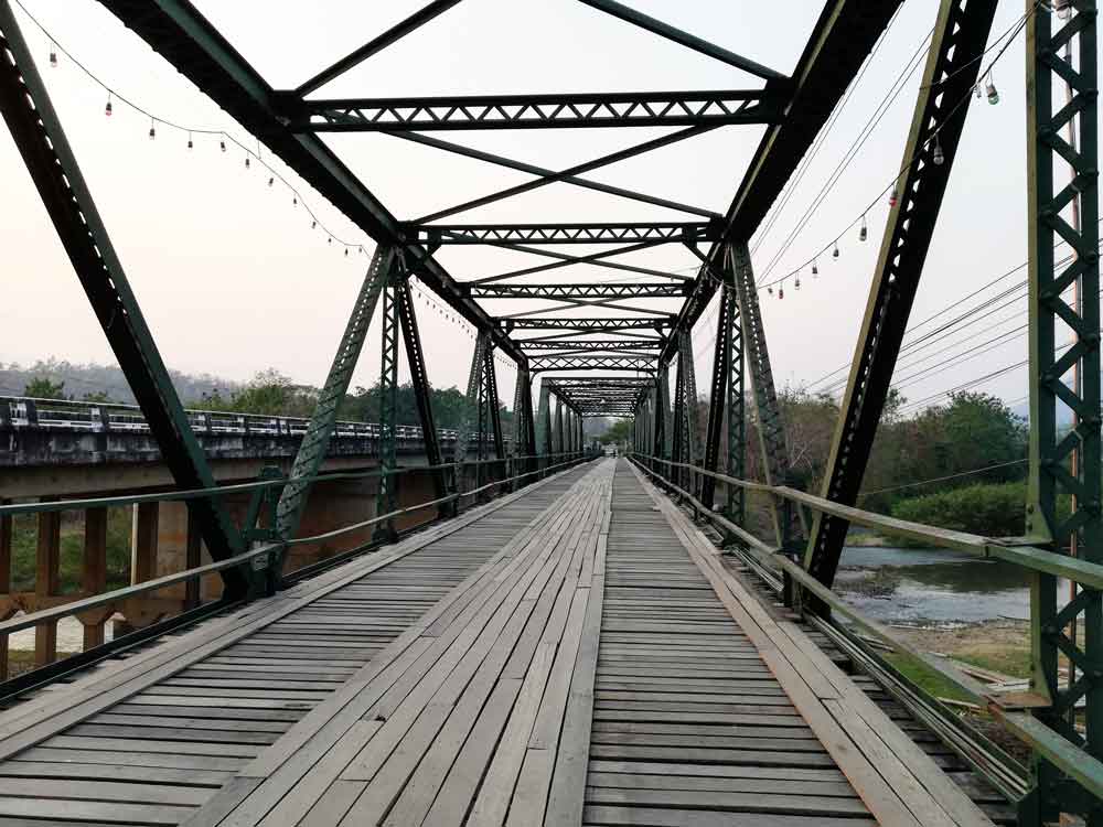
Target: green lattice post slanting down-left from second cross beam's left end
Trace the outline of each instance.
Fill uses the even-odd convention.
[[[299,523],[307,507],[310,486],[325,460],[330,437],[338,421],[338,408],[349,391],[349,383],[352,380],[360,353],[364,348],[368,325],[372,323],[372,316],[375,315],[379,296],[390,279],[395,260],[394,248],[378,247],[372,257],[367,273],[364,276],[364,283],[360,288],[356,303],[349,315],[349,323],[345,325],[340,344],[338,344],[338,352],[333,356],[330,373],[325,377],[325,384],[319,395],[318,406],[310,417],[307,432],[299,444],[288,484],[285,486],[276,507],[276,530],[285,540],[291,539],[299,529]]]

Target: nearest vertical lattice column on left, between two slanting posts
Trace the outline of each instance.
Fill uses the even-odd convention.
[[[398,267],[392,268],[390,279],[383,291],[383,352],[379,358],[379,486],[376,490],[375,514],[389,514],[398,507],[398,282],[405,278]],[[377,539],[393,540],[394,520],[376,524]]]

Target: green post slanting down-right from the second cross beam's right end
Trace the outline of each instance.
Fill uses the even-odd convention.
[[[765,346],[754,269],[751,267],[751,256],[746,243],[729,245],[727,253],[730,257],[728,266],[736,279],[743,346],[750,368],[751,406],[759,437],[763,482],[767,485],[784,485],[789,482],[789,449],[785,445],[785,427],[778,405],[778,391],[773,385],[770,352]],[[790,541],[791,520],[786,518],[785,508],[777,497],[770,498],[770,514],[778,546],[785,548]]]

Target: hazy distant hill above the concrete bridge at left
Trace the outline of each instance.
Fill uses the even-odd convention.
[[[227,391],[243,387],[239,382],[222,379],[210,374],[192,375],[170,368],[169,375],[185,405],[197,401],[204,396],[212,396],[216,390],[226,396]],[[64,394],[73,399],[103,393],[115,402],[133,405],[136,401],[122,369],[117,365],[76,365],[53,357],[28,366],[0,363],[0,396],[22,396],[23,389],[35,378],[65,383]]]

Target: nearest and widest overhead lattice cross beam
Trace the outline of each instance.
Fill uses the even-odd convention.
[[[303,100],[289,93],[280,115],[293,132],[677,127],[777,123],[780,104],[771,89],[332,100]]]

